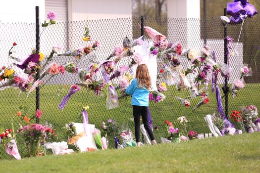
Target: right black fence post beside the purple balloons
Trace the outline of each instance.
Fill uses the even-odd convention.
[[[227,15],[227,8],[224,8],[224,16]],[[227,64],[227,28],[224,27],[224,63]],[[226,118],[228,118],[228,76],[225,76],[225,83],[223,87],[223,91],[225,94],[225,114]]]

